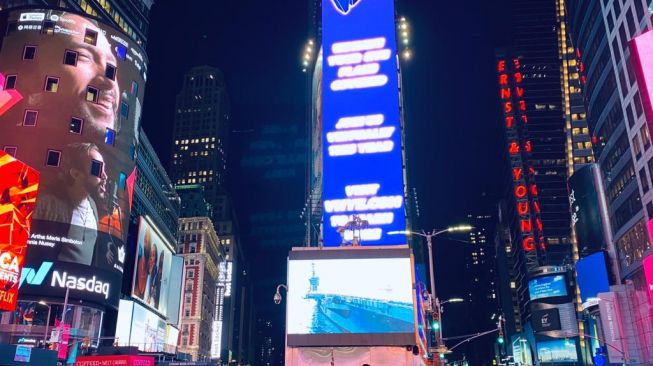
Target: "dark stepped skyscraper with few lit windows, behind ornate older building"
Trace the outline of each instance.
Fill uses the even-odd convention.
[[[228,141],[224,76],[214,67],[194,67],[177,95],[170,176],[176,185],[202,185],[215,211],[226,188]]]

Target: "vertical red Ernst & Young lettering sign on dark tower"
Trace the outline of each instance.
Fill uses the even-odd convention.
[[[533,146],[528,138],[528,115],[519,58],[500,58],[497,72],[506,149],[510,157],[515,208],[521,233],[520,245],[526,252],[527,266],[536,268],[541,262],[539,252],[544,252],[545,244],[535,169],[530,164]]]

